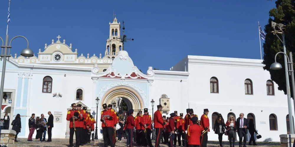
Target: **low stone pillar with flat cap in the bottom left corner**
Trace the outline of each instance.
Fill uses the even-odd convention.
[[[14,130],[1,130],[1,139],[0,144],[7,147],[13,147],[14,146],[14,137],[17,134]]]

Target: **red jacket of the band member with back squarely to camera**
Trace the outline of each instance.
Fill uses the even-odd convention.
[[[189,145],[200,145],[200,136],[201,136],[201,126],[197,124],[190,125],[187,128],[187,135],[186,138],[188,140]]]

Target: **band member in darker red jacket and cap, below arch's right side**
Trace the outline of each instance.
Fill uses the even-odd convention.
[[[129,116],[126,118],[126,129],[127,129],[127,147],[133,147],[132,138],[133,138],[133,129],[135,127],[133,109],[128,110]]]

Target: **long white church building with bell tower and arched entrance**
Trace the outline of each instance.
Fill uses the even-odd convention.
[[[263,70],[262,60],[188,55],[175,66],[167,65],[173,66],[169,71],[147,67],[144,74],[122,49],[121,26],[116,18],[109,27],[105,54],[83,55],[58,36],[39,49],[37,56],[10,57],[1,108],[11,118],[21,115],[20,138],[29,134],[32,113],[46,117],[48,111],[54,115],[53,138],[68,138],[66,115],[71,103],[80,103],[95,115],[97,97],[98,118],[103,103],[118,100],[124,100],[135,112],[148,108],[152,114],[153,99],[154,111],[160,103],[166,116],[173,111],[185,114],[186,108],[193,108],[200,117],[208,108],[209,140],[218,140],[212,129],[218,113],[224,119],[229,114],[239,117],[240,113],[254,119],[262,135],[258,141],[280,141],[279,135],[289,132],[287,96]],[[101,122],[97,122],[100,130]],[[100,131],[98,136],[102,138]]]

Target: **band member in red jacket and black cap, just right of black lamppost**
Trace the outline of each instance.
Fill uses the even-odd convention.
[[[112,112],[108,111],[106,103],[102,105],[104,111],[101,111],[100,121],[102,127],[102,133],[104,135],[104,147],[107,147],[110,143],[111,147],[114,147],[114,120],[112,117]]]

